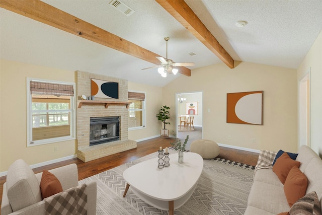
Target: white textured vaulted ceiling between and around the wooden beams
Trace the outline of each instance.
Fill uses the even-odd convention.
[[[221,62],[208,48],[152,0],[122,0],[127,17],[109,0],[43,1],[191,69]],[[234,60],[297,68],[322,30],[320,0],[186,0]],[[248,22],[244,28],[235,22]],[[194,52],[197,56],[190,56]],[[165,86],[181,74],[162,78],[154,64],[0,9],[1,58],[67,70],[82,70],[131,82]],[[45,72],[45,71],[44,71]],[[193,70],[192,70],[193,76]]]

